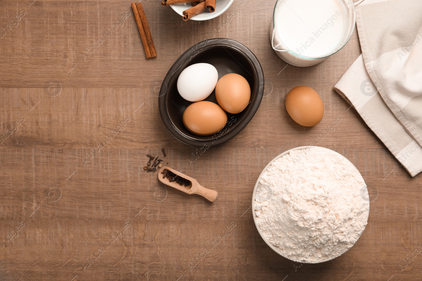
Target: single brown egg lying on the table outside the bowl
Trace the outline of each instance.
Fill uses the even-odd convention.
[[[319,94],[310,87],[292,88],[286,96],[286,109],[290,117],[302,126],[315,126],[324,116],[324,104]]]

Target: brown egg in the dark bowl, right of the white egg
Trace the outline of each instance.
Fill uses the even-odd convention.
[[[251,87],[243,76],[229,73],[218,80],[215,86],[218,104],[229,113],[239,113],[251,99]]]

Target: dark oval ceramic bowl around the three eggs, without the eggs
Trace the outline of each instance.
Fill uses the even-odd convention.
[[[200,62],[214,65],[218,71],[218,79],[227,73],[237,73],[246,78],[251,86],[251,102],[246,108],[237,114],[227,112],[226,126],[209,136],[195,135],[183,125],[183,112],[192,102],[183,99],[177,91],[177,78],[180,73],[189,65]],[[257,57],[235,40],[216,38],[193,45],[176,60],[160,88],[158,107],[164,125],[176,139],[198,147],[206,144],[215,146],[227,142],[245,128],[260,106],[263,91],[264,73]],[[215,91],[205,100],[218,104]]]

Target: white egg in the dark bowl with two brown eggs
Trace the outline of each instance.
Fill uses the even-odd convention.
[[[177,91],[189,102],[206,99],[218,81],[218,72],[211,64],[199,63],[186,67],[177,78]]]

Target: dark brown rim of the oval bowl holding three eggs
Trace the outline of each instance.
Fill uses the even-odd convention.
[[[206,45],[201,47],[198,45],[205,43]],[[252,65],[252,68],[254,70],[254,75],[256,78],[256,86],[255,86],[255,98],[252,101],[251,107],[246,112],[246,115],[244,116],[243,120],[241,120],[240,124],[235,126],[233,130],[230,133],[223,134],[222,136],[218,136],[216,138],[210,138],[211,144],[208,142],[209,146],[216,146],[221,145],[222,143],[225,143],[235,137],[237,134],[239,134],[246,125],[249,124],[249,122],[254,117],[255,113],[258,110],[258,107],[261,104],[262,96],[263,96],[263,90],[265,81],[264,81],[264,72],[262,71],[262,67],[260,62],[258,61],[257,57],[252,53],[249,48],[247,48],[242,43],[239,43],[238,41],[228,39],[228,38],[214,38],[214,39],[208,39],[201,41],[192,47],[188,48],[187,51],[185,51],[181,56],[179,56],[178,59],[174,62],[174,64],[170,67],[170,70],[168,70],[167,75],[165,75],[165,78],[162,82],[161,88],[160,88],[160,95],[158,97],[158,108],[160,110],[160,116],[161,119],[170,132],[176,139],[183,142],[187,145],[192,145],[196,147],[202,147],[205,145],[206,141],[204,140],[197,140],[192,139],[190,137],[185,136],[182,134],[179,129],[174,126],[173,122],[170,120],[170,115],[168,114],[168,110],[166,107],[166,94],[167,94],[167,85],[170,85],[170,80],[173,78],[173,73],[175,73],[182,64],[184,64],[191,56],[196,55],[197,53],[200,53],[202,51],[205,51],[208,48],[214,48],[217,46],[223,46],[227,48],[231,48],[233,50],[238,51],[240,54],[242,54],[247,60],[249,60],[250,64]],[[197,48],[195,48],[197,47]],[[176,62],[178,64],[176,65]],[[164,92],[164,93],[162,93]],[[214,140],[215,139],[215,140]]]

